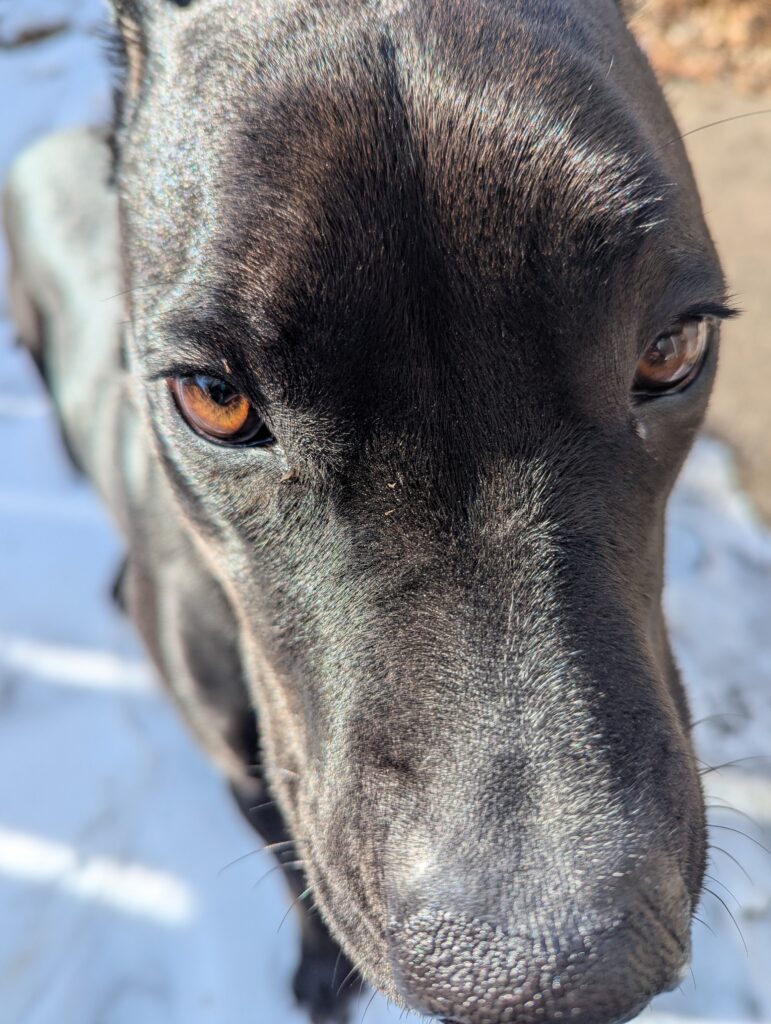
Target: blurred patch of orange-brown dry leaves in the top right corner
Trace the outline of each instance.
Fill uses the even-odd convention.
[[[771,0],[627,0],[626,9],[663,79],[771,93]]]

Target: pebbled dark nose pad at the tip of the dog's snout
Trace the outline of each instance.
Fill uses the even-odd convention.
[[[394,977],[408,1006],[441,1024],[622,1024],[682,964],[682,951],[662,954],[659,923],[640,923],[616,912],[591,927],[508,932],[424,908],[391,932]]]

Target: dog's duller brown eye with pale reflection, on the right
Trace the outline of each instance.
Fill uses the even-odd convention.
[[[717,331],[714,316],[701,316],[684,321],[669,334],[660,334],[637,365],[635,392],[655,395],[681,391],[698,376]]]

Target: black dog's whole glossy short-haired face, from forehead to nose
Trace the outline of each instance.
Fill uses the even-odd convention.
[[[132,367],[315,899],[427,1013],[626,1017],[703,870],[662,535],[728,312],[658,89],[610,0],[147,6]]]

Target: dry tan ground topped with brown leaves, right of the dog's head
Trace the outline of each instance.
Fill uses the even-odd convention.
[[[634,0],[634,8],[632,28],[681,130],[693,132],[685,141],[706,219],[744,310],[724,329],[708,429],[732,445],[771,521],[771,0]],[[738,120],[713,125],[729,118]]]

